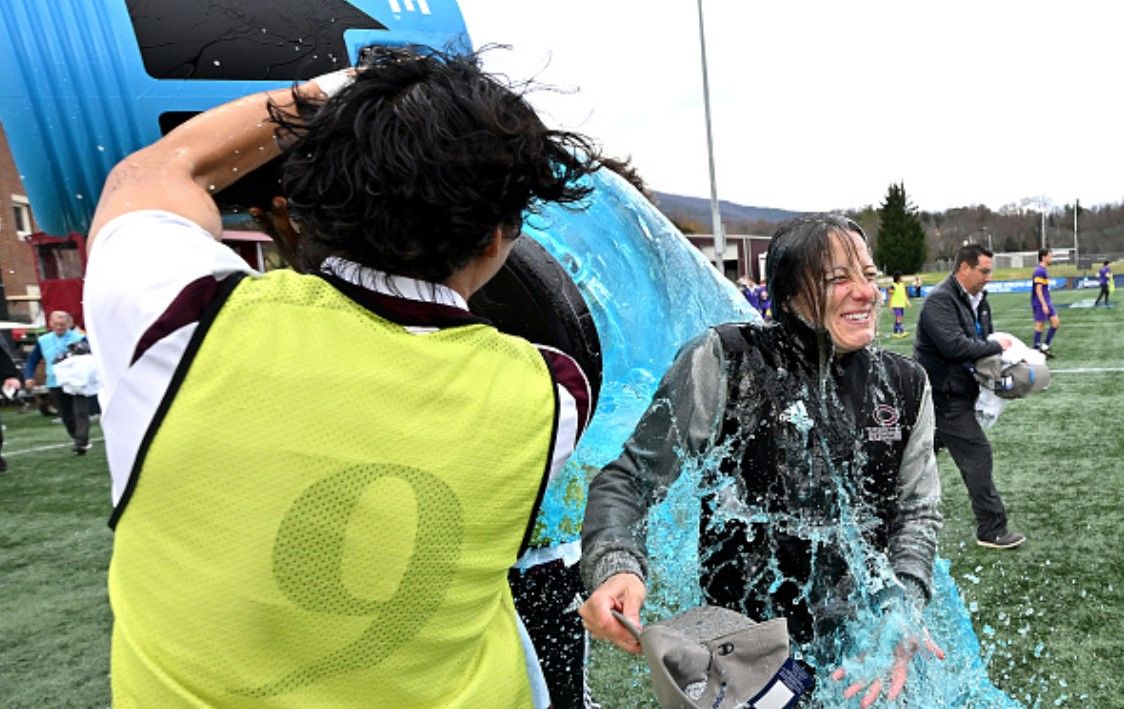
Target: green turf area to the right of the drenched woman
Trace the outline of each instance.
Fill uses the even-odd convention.
[[[996,685],[1028,706],[1124,706],[1124,312],[1090,308],[1096,291],[1059,291],[1061,329],[1045,391],[1010,402],[988,430],[995,480],[1018,549],[976,546],[960,473],[937,457],[945,517],[941,556],[952,574]],[[1030,294],[989,296],[997,330],[1033,342]],[[910,330],[921,301],[906,311]],[[881,342],[909,354],[913,337]]]

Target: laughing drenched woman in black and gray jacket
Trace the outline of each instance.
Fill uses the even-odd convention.
[[[774,324],[726,324],[688,343],[593,480],[581,613],[595,637],[638,652],[611,611],[638,622],[647,510],[682,471],[717,461],[701,483],[704,600],[786,617],[817,684],[834,670],[867,706],[901,691],[918,648],[943,656],[921,625],[942,522],[928,381],[870,347],[880,298],[855,222],[787,222],[767,264]],[[885,671],[889,687],[876,679]]]

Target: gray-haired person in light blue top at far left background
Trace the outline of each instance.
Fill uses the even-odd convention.
[[[35,347],[24,363],[24,381],[28,390],[35,388],[35,370],[43,362],[45,384],[51,398],[51,405],[58,410],[66,433],[74,440],[75,455],[85,455],[90,451],[90,399],[82,394],[63,391],[55,376],[55,363],[70,354],[70,348],[85,339],[85,335],[74,327],[74,318],[65,310],[55,310],[47,317],[49,333],[44,333],[35,340]]]

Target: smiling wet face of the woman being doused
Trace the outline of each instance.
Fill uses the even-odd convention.
[[[832,235],[831,247],[823,327],[837,352],[855,352],[874,340],[878,270],[867,243],[854,231]]]

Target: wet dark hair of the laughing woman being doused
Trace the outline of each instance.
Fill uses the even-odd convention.
[[[799,302],[808,324],[822,327],[832,267],[832,238],[850,231],[867,240],[862,227],[840,215],[797,217],[777,229],[765,256],[773,320],[785,322],[798,317],[794,306]],[[859,258],[852,239],[839,240],[849,258]]]

